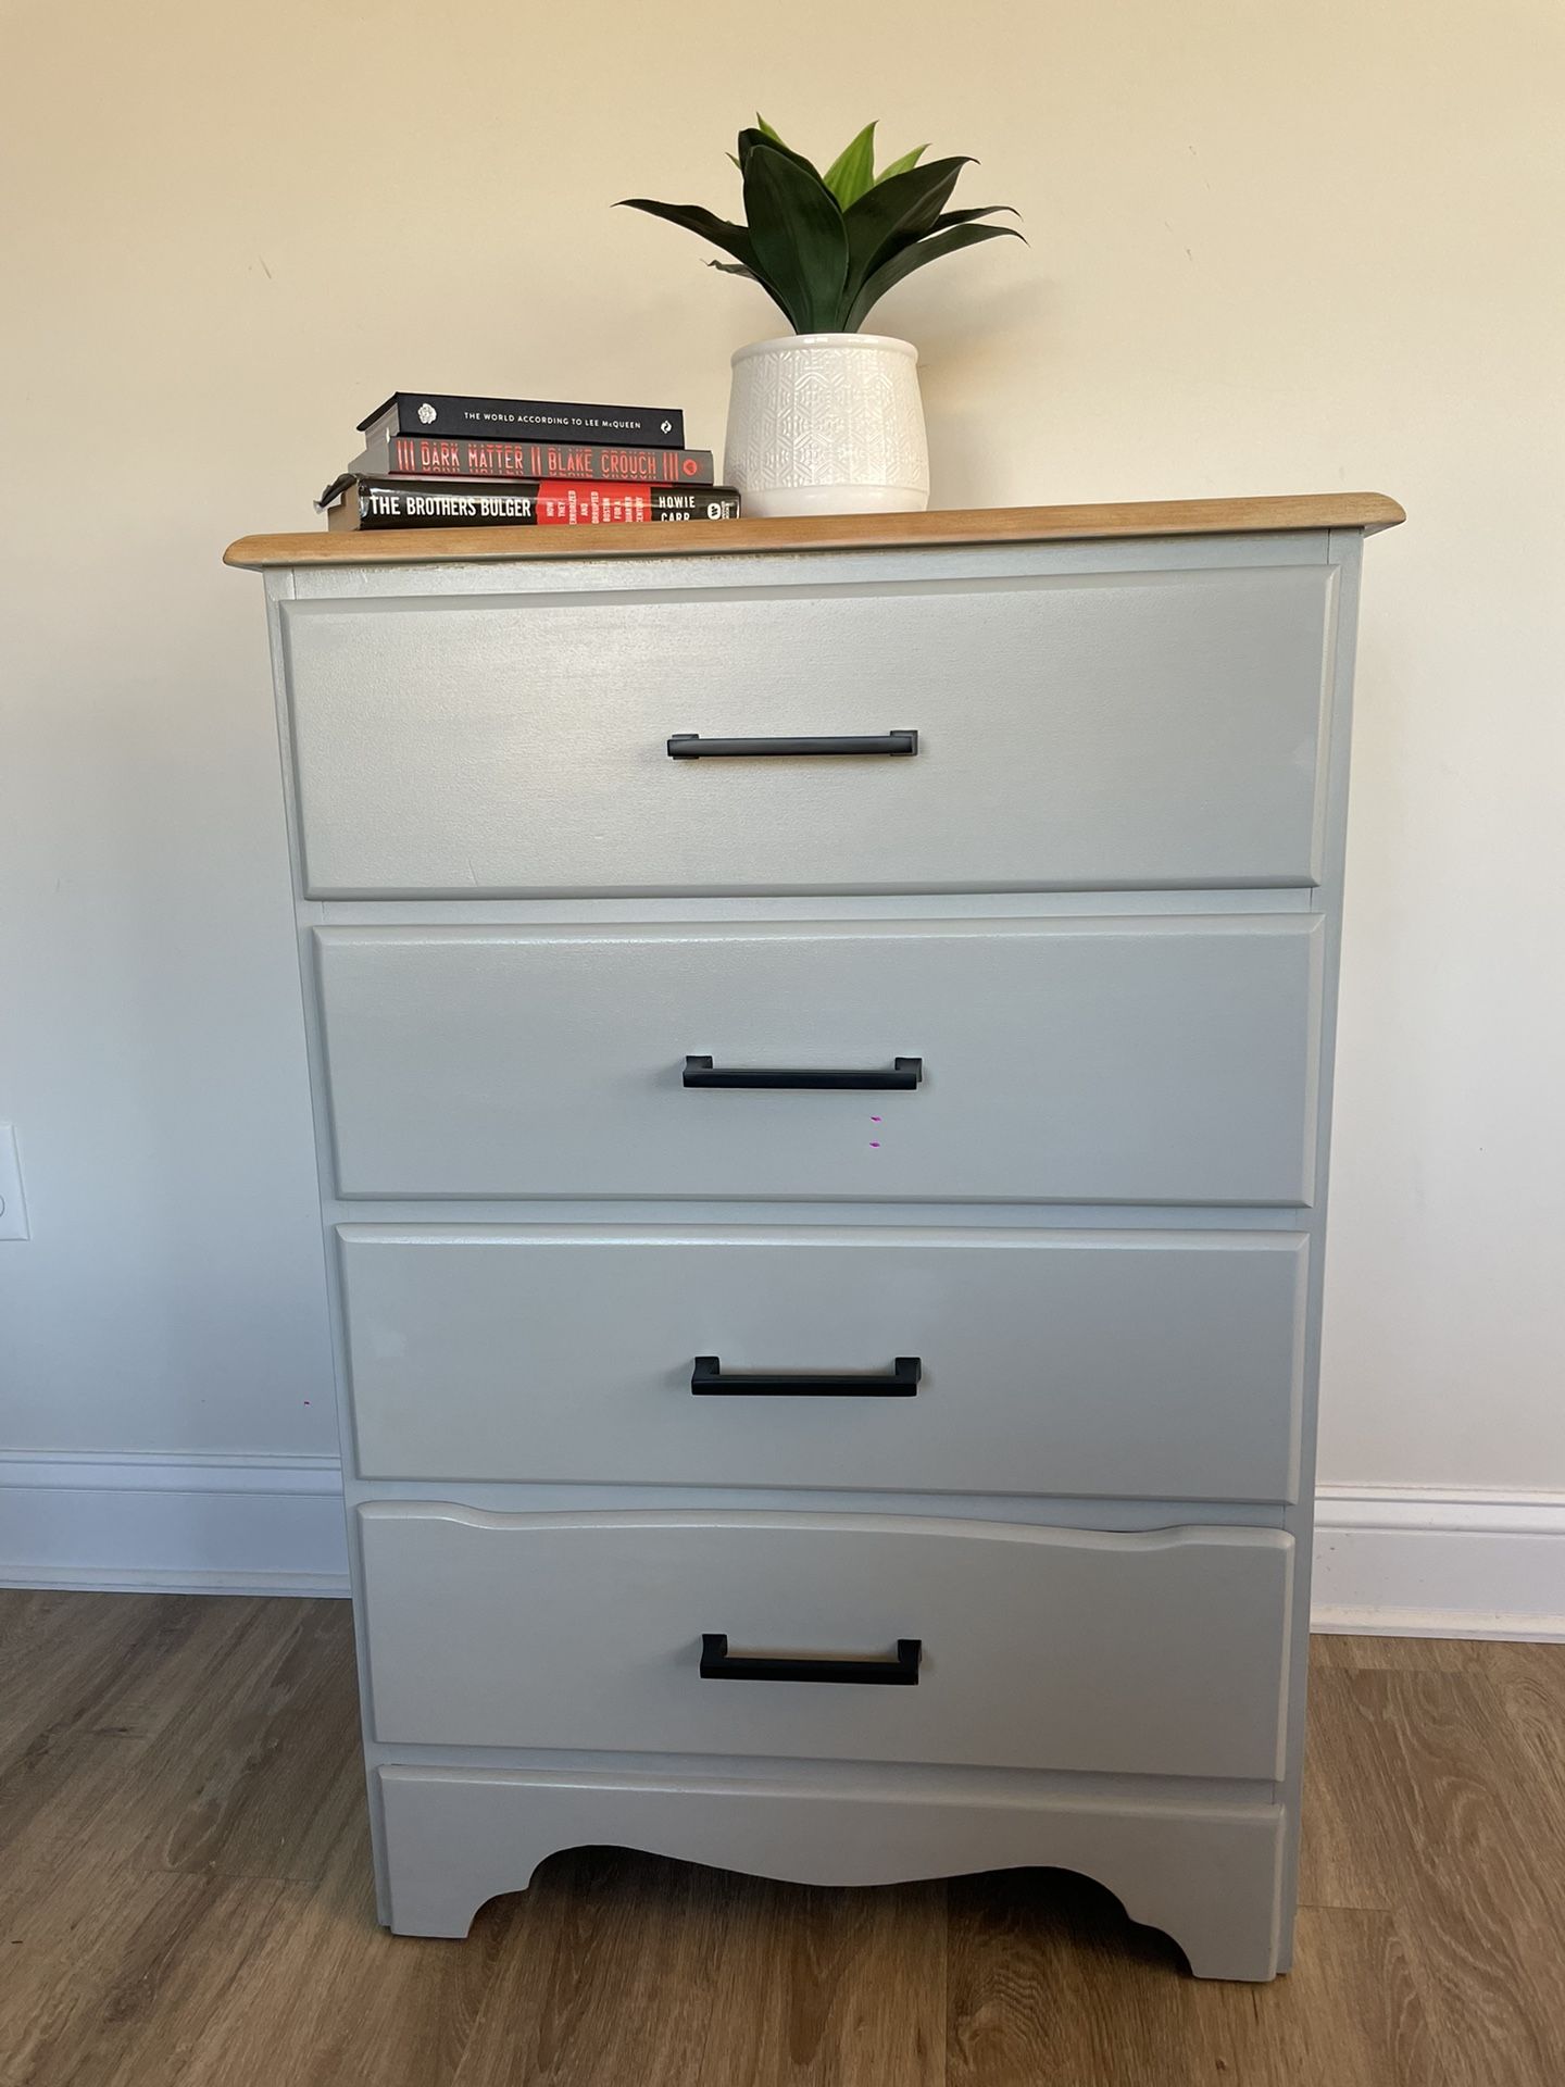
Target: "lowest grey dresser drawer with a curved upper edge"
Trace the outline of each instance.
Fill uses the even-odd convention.
[[[374,1503],[359,1540],[386,1745],[1279,1774],[1281,1530]],[[912,1686],[730,1680],[701,1676],[707,1636],[922,1651]]]

